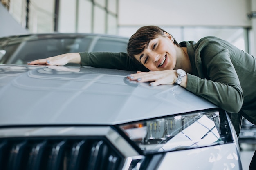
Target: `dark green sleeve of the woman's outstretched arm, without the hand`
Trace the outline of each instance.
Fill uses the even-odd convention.
[[[130,71],[149,71],[136,59],[129,57],[127,53],[81,52],[79,54],[81,57],[81,66]]]

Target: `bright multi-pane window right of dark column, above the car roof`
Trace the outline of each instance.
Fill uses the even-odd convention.
[[[58,31],[117,34],[118,0],[60,0]]]

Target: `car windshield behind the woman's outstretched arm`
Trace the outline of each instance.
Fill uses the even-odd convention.
[[[1,40],[0,40],[1,41]],[[0,42],[0,64],[26,64],[40,58],[83,51],[126,52],[128,39],[101,36],[46,36],[33,40]]]

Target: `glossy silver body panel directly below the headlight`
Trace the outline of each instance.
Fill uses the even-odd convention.
[[[198,170],[239,170],[242,165],[238,161],[239,151],[236,150],[233,144],[223,144],[168,152],[157,170],[189,170],[191,167]]]

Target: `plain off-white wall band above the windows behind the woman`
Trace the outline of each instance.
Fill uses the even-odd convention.
[[[119,0],[119,26],[248,27],[250,10],[250,0]]]

